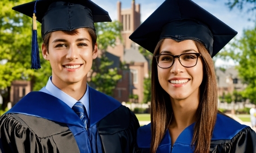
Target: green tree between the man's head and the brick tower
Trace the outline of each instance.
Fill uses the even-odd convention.
[[[117,68],[111,68],[114,63],[106,57],[108,46],[115,46],[116,38],[121,39],[121,24],[118,21],[95,23],[98,48],[101,50],[99,60],[94,60],[90,85],[98,91],[112,96],[121,75]]]

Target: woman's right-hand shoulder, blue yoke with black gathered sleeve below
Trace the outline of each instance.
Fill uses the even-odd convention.
[[[234,119],[218,114],[210,153],[225,150],[232,153],[256,153],[256,133]]]

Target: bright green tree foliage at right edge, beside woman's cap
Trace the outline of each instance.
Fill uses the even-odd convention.
[[[256,103],[256,27],[243,31],[243,37],[235,39],[231,47],[219,54],[222,59],[233,59],[239,65],[236,69],[243,83],[248,86],[242,92],[243,97]]]

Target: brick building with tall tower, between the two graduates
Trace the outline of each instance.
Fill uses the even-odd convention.
[[[116,46],[108,47],[109,54],[120,57],[127,69],[120,70],[122,79],[114,90],[114,98],[120,102],[128,102],[129,95],[137,95],[137,102],[143,101],[143,81],[148,77],[148,61],[139,52],[139,45],[129,39],[129,36],[141,24],[140,4],[131,1],[131,8],[121,9],[121,2],[117,2],[117,19],[122,23],[121,36],[123,42],[116,41]],[[113,60],[109,57],[110,60]]]

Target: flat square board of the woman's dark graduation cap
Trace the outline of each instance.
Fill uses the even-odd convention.
[[[179,19],[195,19],[208,26],[214,39],[212,57],[237,34],[235,30],[191,0],[165,0],[129,38],[153,53],[162,27]]]

